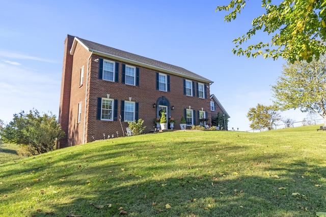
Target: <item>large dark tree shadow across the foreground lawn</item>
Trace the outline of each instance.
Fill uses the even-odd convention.
[[[132,165],[134,161],[129,163]],[[167,166],[147,166],[139,172],[142,177],[132,167],[122,172],[123,166],[101,168],[100,174],[80,171],[85,177],[91,177],[95,191],[87,191],[85,181],[67,176],[65,185],[80,191],[79,196],[72,197],[69,203],[53,204],[52,215],[118,216],[119,207],[123,207],[128,216],[315,216],[316,211],[326,210],[326,192],[315,186],[326,177],[326,170],[306,162],[268,169],[269,173],[286,170],[287,173],[280,174],[279,178],[207,173],[198,176],[190,172],[194,175],[155,179],[152,172]],[[105,170],[121,175],[110,177],[110,173],[102,174]],[[112,204],[112,207],[105,204]],[[167,209],[166,204],[171,208]],[[98,209],[97,205],[104,207]]]

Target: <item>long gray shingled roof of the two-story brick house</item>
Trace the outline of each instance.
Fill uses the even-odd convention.
[[[155,59],[151,59],[151,58],[147,58],[147,57],[140,56],[140,55],[137,55],[137,54],[129,53],[129,52],[119,50],[119,49],[116,49],[116,48],[101,45],[101,44],[91,42],[91,41],[88,41],[88,40],[85,40],[85,39],[81,39],[81,38],[78,38],[78,37],[75,37],[75,38],[77,38],[86,47],[88,47],[88,49],[90,51],[93,51],[93,52],[102,53],[102,54],[109,55],[109,56],[113,55],[113,56],[121,57],[123,59],[132,61],[135,64],[141,63],[141,64],[145,64],[145,65],[148,65],[148,66],[152,66],[154,68],[164,69],[164,70],[170,71],[172,73],[179,74],[180,76],[206,81],[207,83],[212,83],[211,80],[209,80],[207,78],[204,78],[203,76],[200,76],[200,75],[198,75],[196,73],[193,73],[191,71],[188,71],[186,69],[183,69],[181,67],[177,67],[177,66],[174,66],[174,65],[171,65],[171,64],[163,63],[163,62],[157,61]]]

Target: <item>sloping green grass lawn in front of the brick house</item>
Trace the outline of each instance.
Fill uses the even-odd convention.
[[[0,165],[0,216],[118,216],[120,207],[127,216],[316,216],[326,211],[317,128],[175,131],[16,159]]]

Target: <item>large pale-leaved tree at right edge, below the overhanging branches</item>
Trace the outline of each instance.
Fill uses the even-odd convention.
[[[324,118],[326,126],[326,58],[311,63],[296,61],[283,66],[282,75],[272,86],[275,104],[282,110],[299,108]]]

